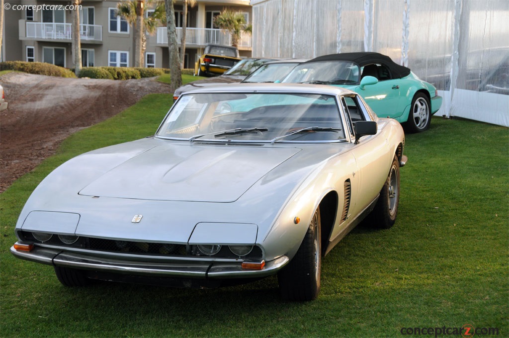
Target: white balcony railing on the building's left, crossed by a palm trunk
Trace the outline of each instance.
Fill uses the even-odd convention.
[[[102,41],[102,26],[97,24],[80,24],[81,40]],[[71,40],[70,23],[26,22],[26,37],[48,40]]]

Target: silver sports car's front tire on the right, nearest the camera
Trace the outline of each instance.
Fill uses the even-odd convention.
[[[308,301],[318,297],[322,267],[320,209],[315,211],[294,258],[277,274],[285,300]]]

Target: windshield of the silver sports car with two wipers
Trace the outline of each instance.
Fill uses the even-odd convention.
[[[190,142],[344,140],[335,96],[301,93],[184,94],[156,136]]]

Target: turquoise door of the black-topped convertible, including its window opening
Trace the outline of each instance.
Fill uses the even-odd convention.
[[[364,66],[362,76],[365,76],[364,70],[370,66],[376,66],[377,70],[369,75],[377,77],[378,83],[364,89],[356,87],[355,91],[364,98],[377,116],[398,119],[406,106],[402,79],[393,79],[388,68],[381,64]]]

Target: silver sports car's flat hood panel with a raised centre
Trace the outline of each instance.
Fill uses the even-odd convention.
[[[96,178],[80,195],[108,198],[234,202],[297,148],[160,145]]]

